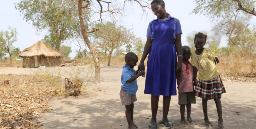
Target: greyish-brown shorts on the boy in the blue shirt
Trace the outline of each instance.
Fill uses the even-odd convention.
[[[129,94],[124,89],[120,90],[120,99],[121,99],[122,105],[130,105],[135,101],[137,101],[136,95]]]

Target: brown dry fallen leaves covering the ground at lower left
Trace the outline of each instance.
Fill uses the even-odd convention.
[[[41,128],[36,118],[50,110],[53,89],[35,75],[0,75],[0,128]]]

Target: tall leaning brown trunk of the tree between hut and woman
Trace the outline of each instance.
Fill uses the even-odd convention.
[[[100,60],[99,60],[99,55],[98,55],[98,50],[96,48],[93,47],[92,43],[90,42],[88,36],[87,36],[87,32],[85,30],[85,24],[83,22],[83,14],[82,14],[82,3],[83,0],[78,0],[78,16],[79,16],[79,21],[80,21],[80,28],[81,28],[81,33],[83,36],[83,39],[86,43],[86,45],[88,46],[88,48],[90,49],[91,53],[92,53],[92,57],[95,63],[95,78],[94,78],[94,82],[95,83],[100,83],[101,82],[101,67],[100,67]]]

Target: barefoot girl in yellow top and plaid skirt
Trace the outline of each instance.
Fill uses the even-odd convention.
[[[194,86],[196,96],[202,98],[204,124],[212,126],[207,115],[207,101],[214,100],[219,116],[218,129],[224,128],[221,109],[221,94],[226,93],[224,85],[220,79],[216,64],[219,59],[210,49],[204,48],[207,36],[203,33],[197,33],[194,38],[196,50],[191,53],[191,63],[194,72]],[[197,80],[197,71],[199,72]]]

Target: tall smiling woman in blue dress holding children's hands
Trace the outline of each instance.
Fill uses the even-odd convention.
[[[161,123],[167,127],[173,127],[173,124],[168,121],[167,115],[171,95],[176,95],[175,70],[177,73],[181,71],[182,31],[180,21],[171,17],[165,11],[163,0],[153,0],[151,2],[151,9],[157,16],[157,19],[151,21],[148,25],[147,42],[138,69],[145,69],[144,60],[149,53],[144,93],[151,94],[152,118],[149,128],[156,129],[156,116],[160,95],[163,95],[163,118]]]

